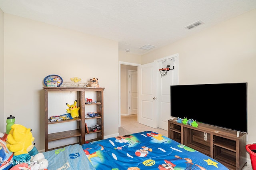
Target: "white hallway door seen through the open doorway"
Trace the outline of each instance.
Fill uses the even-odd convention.
[[[128,114],[138,113],[137,71],[128,70]]]

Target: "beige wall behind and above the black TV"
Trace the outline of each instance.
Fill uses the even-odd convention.
[[[145,64],[179,53],[179,84],[248,82],[248,143],[256,141],[255,18],[252,10],[142,56]]]

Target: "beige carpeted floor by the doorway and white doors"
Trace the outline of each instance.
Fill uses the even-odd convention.
[[[161,128],[152,128],[146,125],[142,125],[137,122],[137,114],[129,115],[129,116],[121,116],[121,127],[119,127],[119,134],[131,134],[138,133],[143,131],[153,131],[160,133],[164,136],[168,137],[168,131]],[[252,170],[251,162],[247,161],[247,166],[244,167],[243,170]]]

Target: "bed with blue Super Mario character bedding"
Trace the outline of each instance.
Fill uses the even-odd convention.
[[[213,158],[152,131],[43,154],[48,170],[228,170]]]

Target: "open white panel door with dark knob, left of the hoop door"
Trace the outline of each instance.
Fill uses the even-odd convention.
[[[138,66],[138,123],[157,128],[158,104],[154,63]]]

